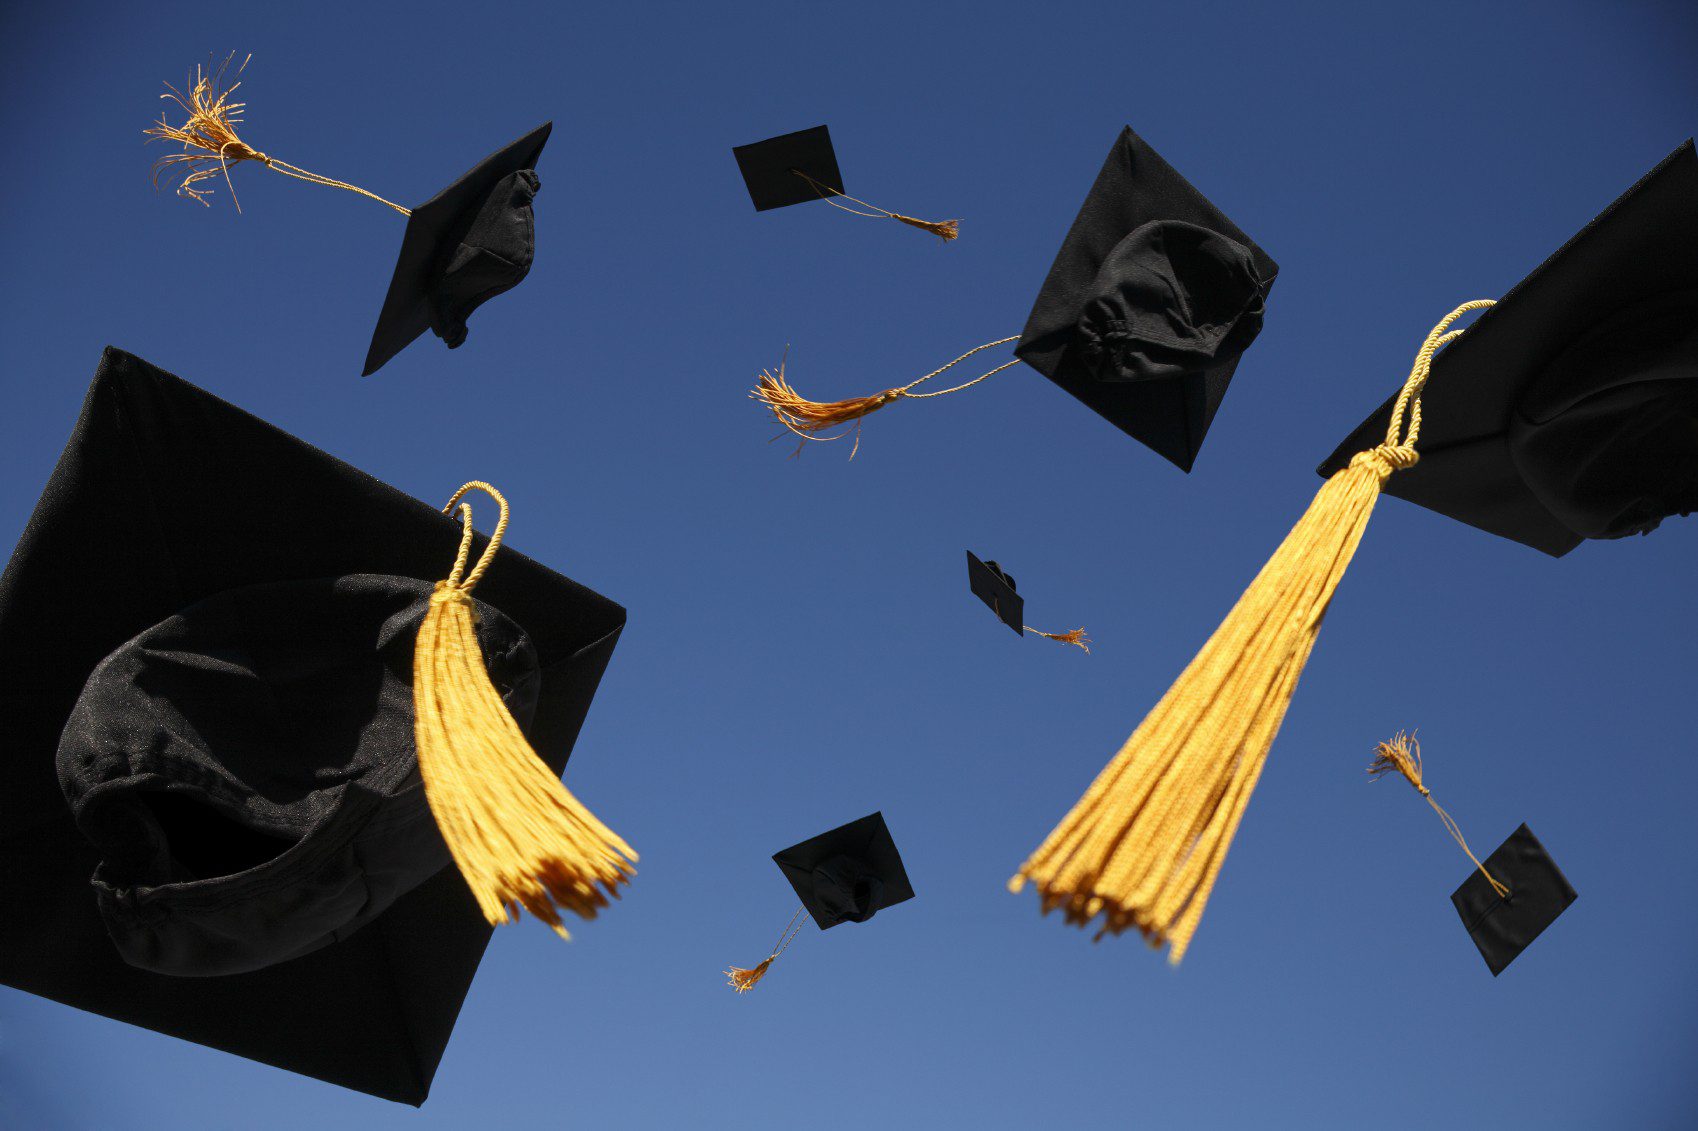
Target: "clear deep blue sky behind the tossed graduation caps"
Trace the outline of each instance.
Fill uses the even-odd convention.
[[[642,875],[571,944],[498,934],[421,1112],[0,990],[0,1124],[1678,1126],[1698,521],[1550,560],[1387,499],[1182,970],[1004,881],[1428,326],[1693,132],[1695,44],[1683,3],[12,7],[0,545],[107,343],[419,498],[503,486],[513,545],[630,608],[569,781]],[[385,209],[149,190],[161,80],[229,49],[255,144],[404,202],[554,119],[537,268],[462,350],[358,377]],[[730,146],[822,121],[851,192],[963,238],[756,216]],[[1192,475],[1026,369],[852,464],[767,443],[786,343],[830,399],[1019,333],[1124,124],[1282,268]],[[964,549],[1095,654],[1015,640]],[[1403,727],[1477,847],[1527,820],[1581,893],[1496,982],[1467,861],[1363,774]],[[793,909],[767,856],[873,808],[919,898],[735,997]]]

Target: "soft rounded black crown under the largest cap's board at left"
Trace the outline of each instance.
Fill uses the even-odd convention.
[[[124,961],[260,970],[348,937],[450,863],[413,740],[430,594],[372,574],[231,589],[100,661],[58,769]],[[535,649],[486,605],[477,622],[528,725]]]

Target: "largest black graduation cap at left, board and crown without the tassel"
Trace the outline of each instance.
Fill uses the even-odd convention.
[[[409,824],[419,817],[416,771],[399,773],[397,762],[409,756],[404,684],[413,657],[404,647],[396,652],[385,633],[404,642],[431,616],[423,606],[455,605],[443,586],[433,598],[430,581],[447,572],[457,543],[484,545],[467,530],[217,397],[107,350],[0,576],[7,718],[0,905],[10,909],[0,915],[0,982],[385,1099],[423,1102],[491,927],[467,881],[445,866],[441,839]],[[525,737],[557,774],[625,611],[514,550],[503,550],[482,576],[477,599],[486,613],[475,645],[496,691],[506,691],[514,715],[528,717]],[[290,628],[290,620],[299,623]],[[341,657],[345,671],[326,669],[328,657]],[[323,766],[326,781],[307,790],[312,796],[287,795],[289,774],[275,761],[287,752],[265,744],[278,732],[261,730],[260,713],[238,725],[243,712],[250,705],[258,712],[267,688],[275,689],[289,696],[282,706],[294,712],[290,718],[304,723],[299,737],[328,751],[340,740],[335,730],[360,718],[360,688],[351,686],[358,683],[363,710],[382,732],[345,735],[346,768],[360,771],[360,781],[351,773],[336,779],[341,771]],[[413,683],[414,691],[423,686],[419,678]],[[161,744],[163,761],[153,764],[149,751],[134,749],[134,735],[160,735],[168,715],[139,701],[148,686],[166,688],[170,712],[207,727],[180,746]],[[314,703],[324,718],[301,713]],[[114,757],[129,759],[136,773],[114,773]],[[148,781],[165,796],[134,796]],[[188,788],[194,781],[202,788]],[[348,781],[340,795],[328,788],[338,781]],[[261,798],[255,785],[273,795]],[[117,847],[160,841],[104,824],[90,810],[93,786],[158,803],[155,827],[182,832],[168,842],[170,858],[119,859]],[[221,790],[248,810],[216,805]],[[372,822],[348,820],[355,802],[370,807],[372,820],[397,825],[399,839],[374,839]],[[314,805],[318,820],[306,813]],[[246,885],[246,873],[233,871],[229,881],[197,871],[239,869],[245,861],[265,868],[278,849],[267,837],[299,836],[295,849],[318,852],[343,834],[365,836],[357,841],[362,849],[391,851],[365,868],[331,852],[324,858],[331,868],[318,876],[370,883],[377,898],[392,898],[368,922],[358,909],[328,905],[335,885],[292,881],[302,898],[299,917],[277,919],[278,905]],[[299,854],[285,849],[277,859],[290,864]],[[426,875],[418,875],[421,854]],[[385,866],[408,875],[379,875]],[[148,929],[171,924],[146,922],[148,914],[171,910],[173,892],[160,885],[149,895],[129,880],[160,868],[182,869],[178,881],[190,886],[205,883],[202,890],[250,900],[260,927],[282,922],[299,937],[267,944],[246,922],[245,946],[255,948],[246,958],[234,948],[197,954],[195,927],[207,920],[190,919],[187,932],[171,934],[188,949],[149,951]],[[102,881],[114,895],[97,895]],[[112,932],[131,912],[134,931]],[[302,948],[297,956],[277,953]],[[217,963],[251,961],[270,965],[211,973]],[[173,976],[144,968],[149,963],[211,976]]]

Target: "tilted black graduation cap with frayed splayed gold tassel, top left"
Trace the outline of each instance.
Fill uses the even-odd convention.
[[[175,102],[188,117],[182,126],[171,126],[161,117],[156,126],[143,131],[149,138],[183,146],[182,153],[166,155],[155,163],[155,183],[161,177],[180,175],[178,195],[207,204],[212,194],[207,182],[222,177],[231,185],[229,166],[255,161],[275,173],[345,188],[401,212],[408,217],[408,228],[389,294],[372,331],[363,375],[375,374],[426,329],[450,350],[458,348],[465,341],[465,319],[472,311],[511,290],[530,273],[537,251],[531,200],[542,187],[535,166],[554,124],[545,122],[503,146],[419,207],[406,209],[358,185],[273,158],[243,141],[236,127],[243,122],[246,104],[231,102],[231,95],[241,87],[239,82],[226,85],[231,59],[234,56],[226,58],[212,73],[197,71],[187,93],[166,83],[170,93],[161,97]],[[236,75],[246,65],[243,59]],[[231,195],[234,197],[234,185]],[[241,211],[239,204],[236,207]]]

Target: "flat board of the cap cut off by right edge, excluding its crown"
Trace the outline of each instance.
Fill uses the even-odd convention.
[[[1588,328],[1645,299],[1698,287],[1698,156],[1688,139],[1518,282],[1438,357],[1421,394],[1420,464],[1394,494],[1562,557],[1583,538],[1515,465],[1510,421],[1523,392]],[[1316,469],[1331,475],[1386,440],[1396,392]]]

